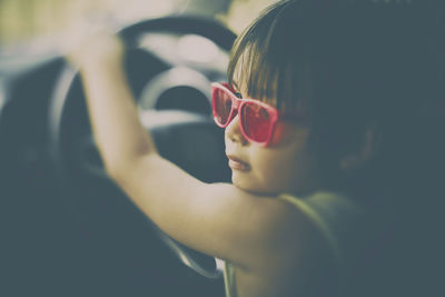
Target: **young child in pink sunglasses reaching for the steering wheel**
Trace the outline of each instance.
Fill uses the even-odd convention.
[[[107,172],[165,232],[226,260],[227,296],[383,296],[373,265],[402,184],[387,180],[437,78],[411,1],[386,2],[279,1],[243,32],[212,85],[231,185],[158,155],[116,37],[71,55]]]

